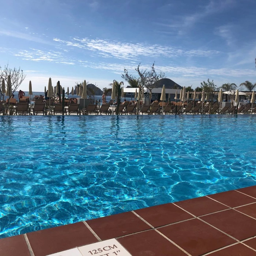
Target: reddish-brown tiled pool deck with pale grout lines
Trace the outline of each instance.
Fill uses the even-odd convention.
[[[0,255],[87,256],[59,252],[111,238],[129,253],[95,255],[256,255],[256,186],[3,238]]]

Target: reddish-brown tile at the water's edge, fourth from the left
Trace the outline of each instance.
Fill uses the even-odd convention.
[[[153,227],[165,226],[171,223],[194,218],[194,216],[188,214],[172,203],[142,208],[135,210],[134,212],[150,223]]]

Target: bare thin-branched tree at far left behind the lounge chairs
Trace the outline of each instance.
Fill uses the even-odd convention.
[[[11,84],[8,83],[8,76],[10,76],[11,79]],[[26,75],[23,73],[23,70],[19,68],[10,68],[9,64],[4,65],[4,68],[0,66],[0,78],[1,80],[4,79],[5,85],[8,86],[9,91],[9,99],[8,99],[8,104],[6,105],[6,109],[4,111],[3,109],[3,115],[7,114],[8,108],[10,108],[10,98],[12,94],[19,88],[20,84],[24,81],[26,78]],[[0,93],[2,93],[2,88],[0,88]]]

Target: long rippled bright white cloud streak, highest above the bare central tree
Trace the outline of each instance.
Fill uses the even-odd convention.
[[[216,50],[184,50],[166,45],[150,45],[147,43],[128,43],[119,41],[109,41],[103,39],[72,38],[69,41],[54,38],[53,41],[59,42],[73,48],[80,48],[94,52],[101,57],[114,57],[117,59],[138,60],[144,57],[179,57],[197,56],[209,57],[219,54]]]

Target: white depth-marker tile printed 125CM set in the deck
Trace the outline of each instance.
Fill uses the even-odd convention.
[[[83,256],[132,256],[116,239],[109,239],[78,248]]]

